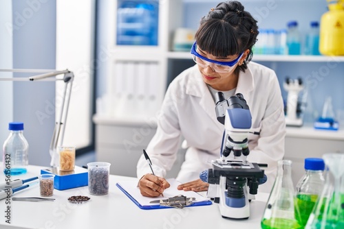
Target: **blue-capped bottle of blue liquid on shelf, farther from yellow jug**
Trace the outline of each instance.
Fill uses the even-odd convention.
[[[290,21],[288,23],[287,46],[289,55],[301,54],[301,34],[297,21]]]

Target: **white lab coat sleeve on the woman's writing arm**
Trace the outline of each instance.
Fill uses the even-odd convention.
[[[173,82],[166,91],[162,108],[156,116],[157,131],[147,146],[147,154],[152,162],[153,171],[156,176],[166,176],[177,158],[180,147],[180,125],[178,121],[178,88]],[[141,178],[146,173],[151,173],[151,169],[144,156],[138,160],[137,176]]]

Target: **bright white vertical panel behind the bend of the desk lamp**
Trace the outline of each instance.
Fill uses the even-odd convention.
[[[94,0],[56,1],[56,69],[74,72],[63,145],[77,149],[92,141],[94,12]],[[63,85],[56,86],[59,109]]]

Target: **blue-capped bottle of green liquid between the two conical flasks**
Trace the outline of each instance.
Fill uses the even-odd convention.
[[[296,187],[297,205],[303,226],[307,224],[308,217],[310,217],[310,213],[312,213],[314,205],[321,195],[321,191],[323,191],[325,163],[322,158],[305,158],[304,168],[305,174]]]

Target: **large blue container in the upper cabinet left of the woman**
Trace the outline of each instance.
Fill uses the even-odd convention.
[[[158,1],[122,1],[117,45],[158,45]]]

